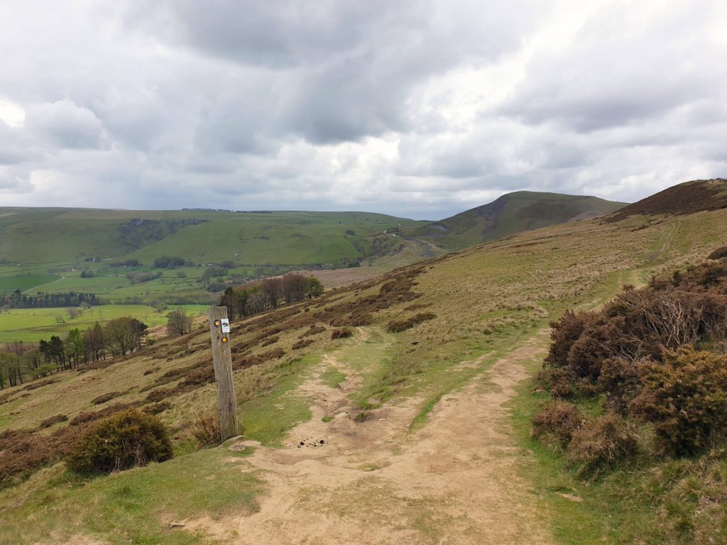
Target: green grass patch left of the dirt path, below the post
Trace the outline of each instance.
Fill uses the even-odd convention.
[[[64,541],[81,535],[116,545],[204,543],[202,536],[166,523],[257,509],[260,483],[236,459],[249,453],[209,449],[89,481],[68,474],[62,464],[44,469],[0,492],[2,504],[15,505],[12,513],[0,512],[0,542],[30,545],[49,536]]]

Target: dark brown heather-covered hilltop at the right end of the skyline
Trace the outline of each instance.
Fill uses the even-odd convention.
[[[727,179],[695,179],[691,182],[673,185],[629,206],[624,206],[615,214],[608,216],[605,221],[608,223],[620,222],[622,219],[638,214],[680,216],[723,208],[727,208]]]

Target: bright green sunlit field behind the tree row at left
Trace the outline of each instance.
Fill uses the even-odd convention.
[[[71,318],[65,308],[11,309],[0,312],[0,344],[48,340],[51,335],[63,336],[73,328],[83,330],[96,322],[103,323],[121,316],[138,318],[150,328],[163,326],[172,308],[184,308],[190,314],[198,315],[209,307],[204,304],[174,305],[159,311],[145,304],[105,304],[79,310],[76,318]]]

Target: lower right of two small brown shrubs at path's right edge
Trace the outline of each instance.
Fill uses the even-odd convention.
[[[639,450],[636,427],[622,416],[608,413],[575,429],[568,445],[568,461],[578,474],[596,476]]]

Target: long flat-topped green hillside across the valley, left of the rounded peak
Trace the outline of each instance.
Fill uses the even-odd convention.
[[[367,257],[366,237],[415,224],[362,212],[0,208],[0,259],[72,263],[182,255],[193,262],[338,263]]]

